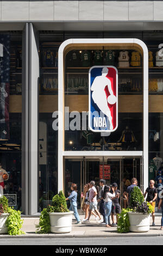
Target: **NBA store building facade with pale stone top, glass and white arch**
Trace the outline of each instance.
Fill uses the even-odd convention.
[[[123,193],[136,176],[145,191],[162,168],[163,1],[0,6],[0,175],[9,174],[0,185],[10,205],[35,215],[75,182],[80,208],[84,184],[100,178]],[[95,65],[118,70],[110,134],[88,129]]]

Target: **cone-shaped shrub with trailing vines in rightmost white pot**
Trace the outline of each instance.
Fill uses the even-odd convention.
[[[118,216],[118,233],[147,232],[152,211],[152,205],[145,201],[140,188],[135,186],[131,192],[129,208],[122,209]]]

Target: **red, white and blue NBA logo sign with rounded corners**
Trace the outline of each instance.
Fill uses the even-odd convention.
[[[89,129],[113,132],[118,126],[118,71],[114,66],[89,70]]]

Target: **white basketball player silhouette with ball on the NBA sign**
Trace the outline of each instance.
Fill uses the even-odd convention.
[[[92,99],[98,106],[98,108],[108,117],[110,122],[110,130],[113,130],[111,112],[108,103],[114,104],[116,102],[116,96],[112,92],[111,81],[106,77],[108,75],[108,68],[102,69],[102,75],[97,76],[92,83],[91,90]],[[105,87],[108,86],[110,95],[106,97]]]

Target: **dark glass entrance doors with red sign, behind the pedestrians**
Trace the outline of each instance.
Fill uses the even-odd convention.
[[[105,179],[106,185],[116,182],[121,191],[120,204],[124,206],[123,192],[130,185],[133,177],[137,178],[138,186],[143,189],[142,157],[65,157],[64,192],[68,196],[72,183],[78,186],[78,208],[82,205],[84,185],[94,180]]]

